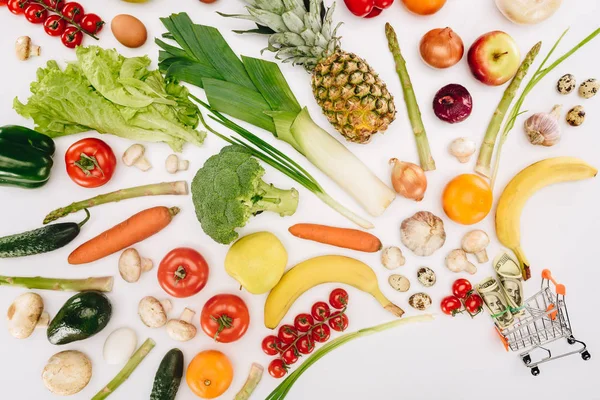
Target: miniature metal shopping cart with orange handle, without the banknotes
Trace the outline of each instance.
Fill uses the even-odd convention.
[[[550,282],[554,284],[556,293],[552,291]],[[525,300],[523,313],[515,318],[510,328],[496,328],[506,350],[520,351],[519,357],[534,376],[539,375],[538,365],[542,363],[577,353],[586,361],[591,357],[585,343],[573,336],[565,303],[565,286],[556,283],[547,269],[542,271],[541,286],[538,293]],[[563,338],[569,345],[577,347],[572,351],[553,353],[548,345]]]

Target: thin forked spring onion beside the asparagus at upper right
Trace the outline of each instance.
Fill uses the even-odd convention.
[[[508,119],[506,120],[504,129],[502,130],[502,135],[500,136],[500,140],[498,142],[498,149],[496,150],[496,159],[494,162],[494,171],[493,171],[492,180],[491,180],[492,188],[494,187],[494,183],[496,182],[496,176],[497,176],[498,170],[500,168],[500,156],[502,154],[502,146],[504,146],[504,142],[506,142],[506,138],[508,137],[508,134],[510,133],[512,128],[515,126],[515,122],[516,122],[517,118],[521,114],[526,112],[526,111],[521,111],[521,107],[523,106],[523,102],[525,101],[525,98],[527,97],[527,95],[533,90],[533,88],[542,79],[544,79],[544,77],[546,75],[548,75],[548,73],[550,73],[552,70],[554,70],[556,67],[558,67],[567,58],[571,57],[575,52],[577,52],[577,50],[579,50],[580,48],[585,46],[587,43],[589,43],[591,40],[593,40],[596,36],[598,36],[598,34],[600,34],[600,28],[596,29],[594,32],[590,33],[585,39],[583,39],[581,42],[579,42],[575,47],[573,47],[571,50],[569,50],[568,52],[563,54],[562,57],[558,58],[556,61],[554,61],[552,64],[550,64],[546,67],[546,63],[548,62],[548,60],[550,59],[550,57],[552,56],[552,54],[554,53],[554,51],[556,50],[556,48],[558,47],[558,45],[560,44],[562,39],[565,37],[565,35],[567,34],[568,31],[569,31],[568,29],[566,31],[564,31],[563,34],[560,35],[560,37],[558,38],[558,40],[556,41],[554,46],[552,46],[552,48],[548,52],[548,55],[546,55],[546,58],[544,58],[544,61],[542,61],[539,68],[537,69],[537,71],[535,71],[535,74],[533,74],[533,76],[531,77],[531,80],[529,81],[529,83],[527,83],[527,86],[525,86],[525,89],[523,89],[521,96],[517,99],[516,103],[514,104],[513,108],[510,111],[510,114],[508,115]]]

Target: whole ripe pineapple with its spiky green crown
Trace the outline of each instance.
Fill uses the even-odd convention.
[[[312,90],[329,122],[348,140],[368,143],[394,120],[394,98],[365,60],[340,48],[335,3],[323,0],[245,0],[249,19],[269,35],[267,50],[312,73]]]

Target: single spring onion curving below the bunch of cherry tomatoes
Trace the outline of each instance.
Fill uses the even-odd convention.
[[[313,354],[311,354],[310,357],[308,357],[306,359],[306,361],[304,361],[302,363],[302,365],[300,365],[300,367],[298,367],[298,369],[296,369],[287,378],[285,378],[283,380],[283,382],[281,382],[279,384],[279,386],[277,386],[275,388],[275,390],[273,390],[271,392],[271,394],[269,394],[265,400],[283,400],[285,398],[285,396],[287,396],[287,394],[290,391],[290,389],[292,388],[292,386],[294,386],[294,383],[296,383],[298,378],[300,378],[300,376],[311,365],[313,365],[314,363],[319,361],[321,358],[323,358],[325,355],[327,355],[328,353],[332,352],[333,350],[337,349],[338,347],[342,346],[345,343],[348,343],[354,339],[358,339],[359,337],[372,335],[374,333],[382,332],[387,329],[395,328],[400,325],[409,324],[409,323],[413,323],[413,322],[432,321],[432,320],[433,320],[433,316],[431,314],[419,315],[416,317],[407,317],[407,318],[387,322],[385,324],[373,326],[371,328],[361,329],[357,332],[346,333],[345,335],[342,335],[336,339],[333,339],[331,342],[325,344],[323,347],[321,347],[320,349],[315,351]]]

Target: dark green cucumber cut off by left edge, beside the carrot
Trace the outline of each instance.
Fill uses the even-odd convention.
[[[53,224],[0,238],[0,258],[31,256],[66,246],[79,235],[81,227],[90,219],[89,211],[84,211],[86,217],[78,224]]]

